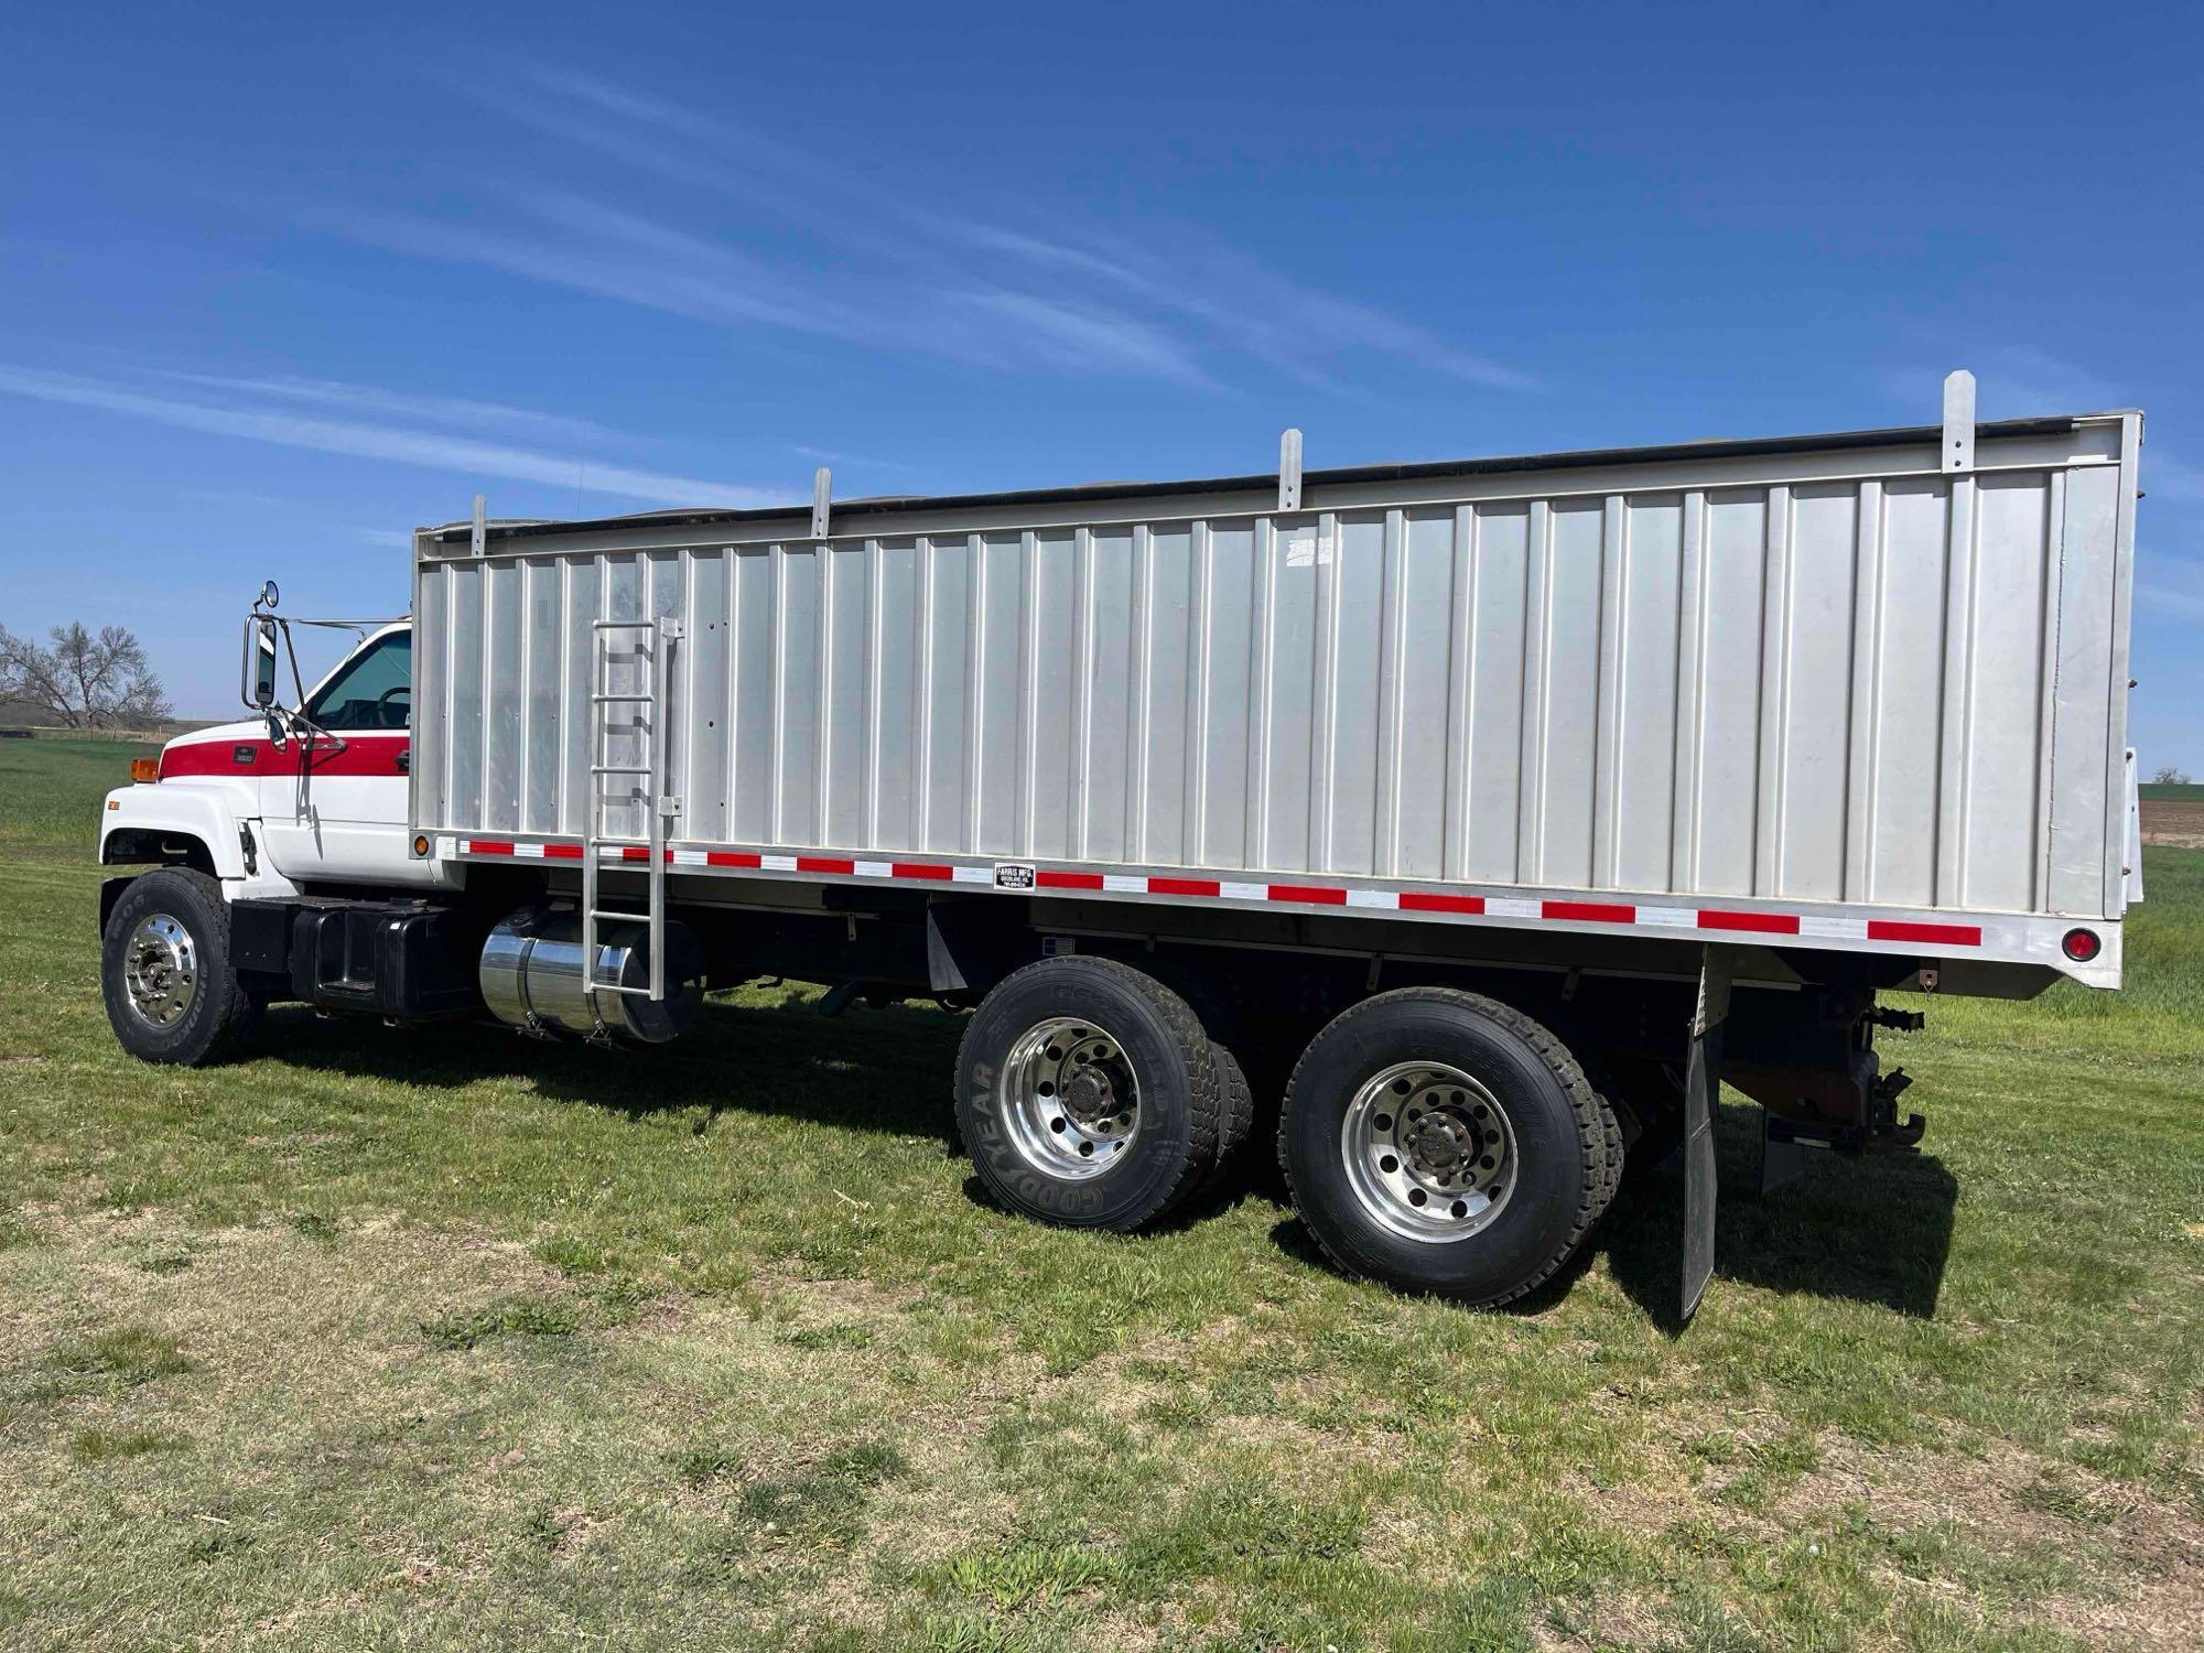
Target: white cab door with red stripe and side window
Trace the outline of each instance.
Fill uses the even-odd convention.
[[[262,835],[293,884],[428,884],[406,853],[412,760],[412,630],[370,637],[306,699],[320,732],[298,736],[262,776]]]

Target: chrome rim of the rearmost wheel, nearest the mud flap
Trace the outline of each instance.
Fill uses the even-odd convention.
[[[1488,1228],[1516,1184],[1508,1109],[1446,1062],[1395,1062],[1364,1080],[1340,1126],[1340,1155],[1362,1210],[1433,1245]]]

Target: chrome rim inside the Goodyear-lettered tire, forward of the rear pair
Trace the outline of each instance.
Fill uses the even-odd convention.
[[[1139,1080],[1115,1034],[1082,1016],[1051,1016],[1012,1042],[996,1113],[1034,1170],[1084,1181],[1124,1159],[1139,1135]]]

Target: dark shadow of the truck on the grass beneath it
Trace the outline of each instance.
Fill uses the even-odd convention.
[[[309,1012],[278,1007],[273,1018]],[[963,1018],[928,1007],[851,1009],[829,1018],[789,996],[769,1005],[707,1003],[674,1045],[648,1049],[573,1049],[522,1038],[503,1027],[419,1029],[392,1040],[381,1027],[322,1023],[306,1036],[271,1038],[276,1060],[328,1073],[456,1089],[527,1080],[538,1095],[604,1109],[630,1120],[694,1111],[696,1133],[721,1115],[771,1115],[835,1128],[934,1139],[946,1157],[961,1153],[950,1100],[950,1073]],[[1241,1199],[1283,1206],[1270,1157],[1276,1113],[1258,1117],[1254,1137],[1223,1186],[1173,1214],[1170,1228],[1192,1228]],[[1951,1252],[1959,1186],[1933,1155],[1838,1159],[1816,1155],[1805,1175],[1759,1195],[1759,1113],[1721,1109],[1717,1133],[1721,1208],[1715,1223],[1715,1278],[1772,1292],[1807,1292],[1869,1303],[1911,1318],[1931,1318]],[[965,1195],[987,1203],[976,1177]],[[1272,1230],[1296,1258],[1329,1267],[1292,1212]],[[1578,1276],[1605,1256],[1622,1292],[1675,1333],[1684,1247],[1682,1157],[1633,1166],[1622,1192],[1585,1247],[1538,1292],[1514,1305],[1541,1314],[1560,1303]]]

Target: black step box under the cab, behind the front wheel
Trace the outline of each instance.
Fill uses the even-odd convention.
[[[322,1009],[403,1020],[480,1007],[483,923],[428,901],[298,897],[229,904],[238,970],[284,976],[291,996]]]

